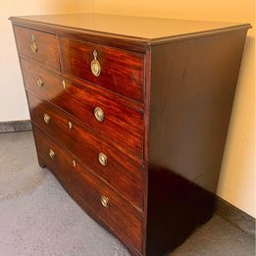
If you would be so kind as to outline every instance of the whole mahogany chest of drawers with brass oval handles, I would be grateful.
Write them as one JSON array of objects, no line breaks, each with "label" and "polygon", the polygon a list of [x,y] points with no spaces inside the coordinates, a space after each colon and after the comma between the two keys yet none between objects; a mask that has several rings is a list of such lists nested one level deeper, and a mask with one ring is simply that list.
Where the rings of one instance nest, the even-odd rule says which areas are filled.
[{"label": "whole mahogany chest of drawers with brass oval handles", "polygon": [[11,18],[38,162],[132,255],[213,213],[249,25]]}]

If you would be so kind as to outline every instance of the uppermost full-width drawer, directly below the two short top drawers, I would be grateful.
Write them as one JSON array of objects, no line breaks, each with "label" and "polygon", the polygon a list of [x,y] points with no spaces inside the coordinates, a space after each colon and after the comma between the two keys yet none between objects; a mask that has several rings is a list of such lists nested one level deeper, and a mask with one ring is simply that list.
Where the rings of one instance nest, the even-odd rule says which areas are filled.
[{"label": "uppermost full-width drawer, directly below the two short top drawers", "polygon": [[[21,64],[26,88],[69,112],[105,138],[127,148],[138,158],[143,158],[143,113],[118,103],[115,95],[114,98],[103,96],[86,84],[80,86],[66,80],[64,89],[62,77],[58,74],[23,59]],[[42,81],[39,86],[38,79]],[[97,107],[104,113],[102,122],[95,118]]]}]

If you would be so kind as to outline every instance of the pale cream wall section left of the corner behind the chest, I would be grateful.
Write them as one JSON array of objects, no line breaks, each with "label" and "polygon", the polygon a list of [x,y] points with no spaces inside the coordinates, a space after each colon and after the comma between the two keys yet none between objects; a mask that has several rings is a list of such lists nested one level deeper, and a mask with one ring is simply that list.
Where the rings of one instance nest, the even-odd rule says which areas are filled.
[{"label": "pale cream wall section left of the corner behind the chest", "polygon": [[7,0],[0,4],[0,122],[29,119],[10,16],[76,13],[91,9],[90,0]]}]

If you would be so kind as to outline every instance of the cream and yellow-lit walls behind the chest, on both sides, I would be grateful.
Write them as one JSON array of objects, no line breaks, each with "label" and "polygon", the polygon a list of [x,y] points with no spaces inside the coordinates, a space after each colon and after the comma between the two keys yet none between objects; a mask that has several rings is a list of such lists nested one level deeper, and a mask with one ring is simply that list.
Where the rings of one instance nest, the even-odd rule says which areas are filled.
[{"label": "cream and yellow-lit walls behind the chest, on both sides", "polygon": [[[89,1],[89,2],[88,2]],[[0,24],[4,36],[0,47],[0,122],[28,118],[26,98],[18,65],[11,15],[72,13],[92,10],[134,16],[245,22],[255,26],[254,0],[9,0],[1,3]],[[4,7],[3,7],[4,5]],[[2,93],[4,86],[4,93]],[[230,122],[229,137],[218,194],[251,216],[255,214],[255,29],[250,29],[245,46]]]}]

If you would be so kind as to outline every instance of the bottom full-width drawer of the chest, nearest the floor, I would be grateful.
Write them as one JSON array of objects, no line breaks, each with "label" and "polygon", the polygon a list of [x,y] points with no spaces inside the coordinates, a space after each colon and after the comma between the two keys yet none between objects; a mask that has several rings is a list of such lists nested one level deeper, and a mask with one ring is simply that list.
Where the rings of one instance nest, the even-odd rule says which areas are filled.
[{"label": "bottom full-width drawer of the chest, nearest the floor", "polygon": [[[42,162],[55,174],[75,200],[94,219],[100,219],[137,251],[142,250],[142,216],[104,181],[85,170],[77,159],[34,127]],[[50,156],[51,150],[51,156]],[[74,166],[76,161],[76,166]]]}]

